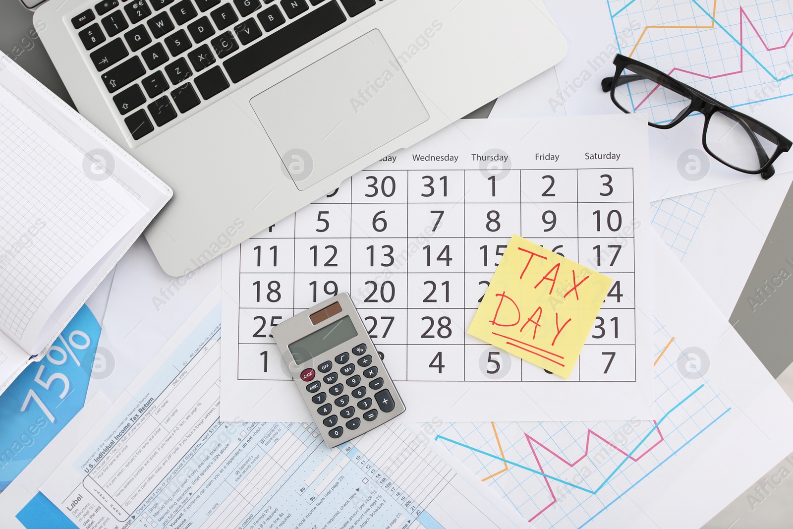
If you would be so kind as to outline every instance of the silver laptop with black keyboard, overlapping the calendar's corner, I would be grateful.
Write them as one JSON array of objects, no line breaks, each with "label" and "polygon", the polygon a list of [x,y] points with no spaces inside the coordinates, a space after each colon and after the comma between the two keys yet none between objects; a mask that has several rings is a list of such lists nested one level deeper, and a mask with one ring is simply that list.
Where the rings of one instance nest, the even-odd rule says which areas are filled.
[{"label": "silver laptop with black keyboard, overlapping the calendar's corner", "polygon": [[174,190],[145,232],[172,276],[566,52],[538,0],[48,0],[33,21],[80,113]]}]

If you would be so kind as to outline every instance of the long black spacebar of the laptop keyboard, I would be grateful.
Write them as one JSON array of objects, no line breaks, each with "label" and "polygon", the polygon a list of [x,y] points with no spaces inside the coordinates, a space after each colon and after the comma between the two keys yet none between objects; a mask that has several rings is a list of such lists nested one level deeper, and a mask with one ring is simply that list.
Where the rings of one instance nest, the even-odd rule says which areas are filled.
[{"label": "long black spacebar of the laptop keyboard", "polygon": [[333,0],[265,39],[259,40],[250,48],[243,49],[236,56],[227,59],[223,66],[232,82],[240,82],[318,36],[328,33],[346,20],[339,4]]}]

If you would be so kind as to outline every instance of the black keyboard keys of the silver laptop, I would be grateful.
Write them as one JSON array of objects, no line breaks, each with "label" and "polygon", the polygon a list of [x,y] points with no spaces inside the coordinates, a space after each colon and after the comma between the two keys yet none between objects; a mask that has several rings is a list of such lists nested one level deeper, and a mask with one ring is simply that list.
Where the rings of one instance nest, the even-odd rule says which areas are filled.
[{"label": "black keyboard keys of the silver laptop", "polygon": [[377,0],[104,0],[71,23],[141,140]]}]

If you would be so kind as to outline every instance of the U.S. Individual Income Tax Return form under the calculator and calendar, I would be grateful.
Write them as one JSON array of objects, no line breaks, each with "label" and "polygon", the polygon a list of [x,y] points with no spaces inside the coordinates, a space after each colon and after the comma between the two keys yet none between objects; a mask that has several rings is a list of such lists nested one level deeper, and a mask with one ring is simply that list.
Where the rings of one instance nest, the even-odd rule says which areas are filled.
[{"label": "U.S. Individual Income Tax Return form under the calculator and calendar", "polygon": [[400,424],[328,449],[313,424],[221,423],[218,298],[41,487],[76,527],[518,527]]}]

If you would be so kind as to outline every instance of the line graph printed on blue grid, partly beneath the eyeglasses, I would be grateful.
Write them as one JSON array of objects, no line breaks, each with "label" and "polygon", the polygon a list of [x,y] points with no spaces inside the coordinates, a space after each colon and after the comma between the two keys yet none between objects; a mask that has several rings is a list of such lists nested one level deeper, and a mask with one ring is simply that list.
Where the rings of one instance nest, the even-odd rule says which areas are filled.
[{"label": "line graph printed on blue grid, partly beneath the eyeglasses", "polygon": [[[793,95],[793,5],[787,0],[607,0],[611,27],[633,27],[619,52],[733,108]],[[747,111],[746,109],[743,109]]]}]

